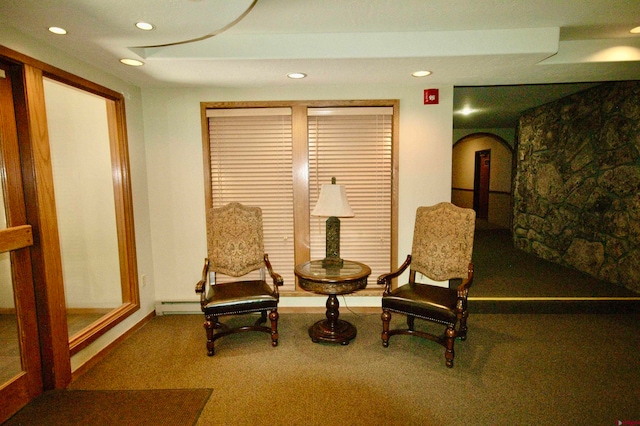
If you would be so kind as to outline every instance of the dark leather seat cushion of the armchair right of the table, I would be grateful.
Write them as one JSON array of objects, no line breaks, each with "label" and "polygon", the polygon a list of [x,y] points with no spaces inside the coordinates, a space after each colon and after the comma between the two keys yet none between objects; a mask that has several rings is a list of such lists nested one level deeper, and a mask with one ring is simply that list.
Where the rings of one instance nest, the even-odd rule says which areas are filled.
[{"label": "dark leather seat cushion of the armchair right of the table", "polygon": [[444,287],[426,284],[407,284],[382,298],[382,308],[433,319],[445,324],[455,324],[458,293]]}]

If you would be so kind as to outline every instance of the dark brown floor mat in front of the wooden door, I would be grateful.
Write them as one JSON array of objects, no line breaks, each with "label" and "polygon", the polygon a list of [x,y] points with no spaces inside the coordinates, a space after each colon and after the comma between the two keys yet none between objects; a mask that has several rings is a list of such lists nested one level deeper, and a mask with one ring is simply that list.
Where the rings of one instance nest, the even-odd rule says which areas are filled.
[{"label": "dark brown floor mat in front of the wooden door", "polygon": [[6,426],[194,425],[211,389],[57,390],[45,392]]}]

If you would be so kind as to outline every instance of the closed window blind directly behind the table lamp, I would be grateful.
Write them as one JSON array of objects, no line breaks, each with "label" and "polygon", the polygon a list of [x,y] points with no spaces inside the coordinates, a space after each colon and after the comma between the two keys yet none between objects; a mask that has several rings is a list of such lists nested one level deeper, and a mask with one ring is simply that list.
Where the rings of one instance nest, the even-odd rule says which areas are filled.
[{"label": "closed window blind directly behind the table lamp", "polygon": [[[309,108],[309,199],[322,184],[346,187],[355,213],[340,220],[340,257],[391,269],[392,107]],[[310,218],[311,258],[325,257],[326,218]]]}]

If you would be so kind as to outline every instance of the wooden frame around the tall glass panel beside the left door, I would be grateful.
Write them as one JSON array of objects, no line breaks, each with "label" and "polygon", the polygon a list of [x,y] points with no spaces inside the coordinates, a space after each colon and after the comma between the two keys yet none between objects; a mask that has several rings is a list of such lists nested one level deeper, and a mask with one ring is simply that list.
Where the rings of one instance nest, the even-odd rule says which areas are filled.
[{"label": "wooden frame around the tall glass panel beside the left door", "polygon": [[[0,59],[19,70],[12,83],[26,217],[33,231],[34,244],[30,254],[38,312],[42,382],[44,390],[60,389],[71,382],[71,354],[75,353],[71,349],[81,350],[140,308],[124,96],[1,45]],[[87,327],[80,339],[72,342],[72,348],[67,329],[44,77],[108,101],[123,304]]]}]

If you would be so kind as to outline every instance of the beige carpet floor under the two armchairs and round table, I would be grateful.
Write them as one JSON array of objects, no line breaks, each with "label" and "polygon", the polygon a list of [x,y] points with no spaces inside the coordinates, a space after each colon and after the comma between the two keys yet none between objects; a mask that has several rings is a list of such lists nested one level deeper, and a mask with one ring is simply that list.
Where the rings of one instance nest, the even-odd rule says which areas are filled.
[{"label": "beige carpet floor under the two armchairs and round table", "polygon": [[348,346],[310,341],[322,314],[282,313],[278,347],[244,333],[214,357],[202,315],[157,317],[71,389],[211,388],[201,426],[640,420],[640,315],[471,315],[448,369],[441,346],[394,336],[383,348],[379,314],[340,312],[358,329]]}]

